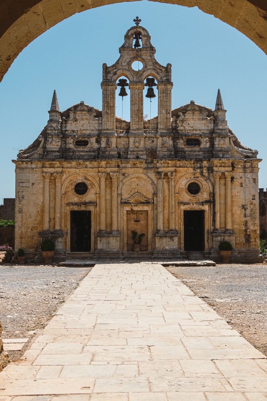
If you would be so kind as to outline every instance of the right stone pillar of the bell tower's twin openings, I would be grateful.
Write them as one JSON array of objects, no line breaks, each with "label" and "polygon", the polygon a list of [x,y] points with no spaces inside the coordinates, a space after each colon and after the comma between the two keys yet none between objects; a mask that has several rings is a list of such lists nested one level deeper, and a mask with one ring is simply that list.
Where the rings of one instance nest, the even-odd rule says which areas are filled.
[{"label": "right stone pillar of the bell tower's twin openings", "polygon": [[159,82],[158,89],[158,131],[171,128],[171,90],[172,82]]}]

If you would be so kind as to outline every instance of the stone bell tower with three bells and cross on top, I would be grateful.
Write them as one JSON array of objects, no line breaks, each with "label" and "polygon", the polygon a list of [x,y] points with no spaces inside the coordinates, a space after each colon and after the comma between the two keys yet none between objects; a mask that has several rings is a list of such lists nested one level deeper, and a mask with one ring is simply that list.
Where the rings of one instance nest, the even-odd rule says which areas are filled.
[{"label": "stone bell tower with three bells and cross on top", "polygon": [[[155,59],[156,49],[151,45],[149,32],[140,26],[141,19],[134,19],[132,26],[124,36],[124,43],[119,48],[120,57],[110,67],[103,64],[102,73],[102,133],[100,158],[116,158],[116,119],[115,91],[121,86],[121,77],[126,77],[120,90],[125,95],[125,87],[130,90],[130,129],[128,134],[128,158],[146,158],[144,133],[143,91],[148,87],[146,97],[158,101],[157,157],[173,157],[173,133],[171,129],[171,64],[166,67]],[[136,71],[132,65],[139,61],[141,68]],[[117,84],[118,79],[120,83]],[[156,83],[157,81],[157,83]],[[153,87],[157,87],[157,95]],[[109,138],[108,146],[106,146]],[[111,144],[110,144],[111,142]]]}]

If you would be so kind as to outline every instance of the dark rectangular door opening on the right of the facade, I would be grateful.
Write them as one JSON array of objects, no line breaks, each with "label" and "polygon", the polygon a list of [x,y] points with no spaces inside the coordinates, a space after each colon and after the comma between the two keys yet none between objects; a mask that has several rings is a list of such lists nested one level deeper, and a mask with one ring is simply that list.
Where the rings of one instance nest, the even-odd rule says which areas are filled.
[{"label": "dark rectangular door opening on the right of the facade", "polygon": [[184,211],[185,251],[204,251],[204,210]]}]

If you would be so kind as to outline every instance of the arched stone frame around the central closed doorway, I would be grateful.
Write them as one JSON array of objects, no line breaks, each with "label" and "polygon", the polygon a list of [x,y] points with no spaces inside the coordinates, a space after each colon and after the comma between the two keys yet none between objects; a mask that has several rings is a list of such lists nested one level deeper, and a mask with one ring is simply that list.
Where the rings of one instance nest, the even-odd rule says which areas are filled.
[{"label": "arched stone frame around the central closed doorway", "polygon": [[[150,194],[150,198],[153,198],[153,203],[140,203],[140,204],[130,204],[130,203],[121,203],[121,191],[122,191],[122,186],[130,179],[136,178],[136,177],[142,177],[145,178],[151,184],[153,188],[153,192]],[[142,173],[134,173],[130,174],[129,176],[123,178],[123,180],[120,181],[118,185],[118,191],[117,191],[117,199],[118,199],[118,227],[120,230],[120,249],[122,249],[123,252],[126,252],[126,233],[127,233],[127,227],[126,227],[126,214],[127,210],[135,210],[135,211],[148,211],[148,221],[149,221],[149,234],[148,234],[148,242],[149,242],[149,251],[153,251],[155,244],[153,244],[153,239],[154,239],[154,231],[155,227],[157,227],[157,223],[155,221],[155,213],[154,213],[154,208],[156,205],[157,206],[157,186],[154,182],[154,180],[147,176],[146,174]]]}]

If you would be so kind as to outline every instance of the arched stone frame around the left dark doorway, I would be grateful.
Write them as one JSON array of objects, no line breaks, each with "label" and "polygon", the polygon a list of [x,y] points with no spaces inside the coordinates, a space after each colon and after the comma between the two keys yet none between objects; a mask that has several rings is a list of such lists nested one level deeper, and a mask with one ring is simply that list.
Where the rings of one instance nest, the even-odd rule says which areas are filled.
[{"label": "arched stone frame around the left dark doorway", "polygon": [[[76,203],[71,203],[71,205],[66,205],[66,188],[68,185],[74,185],[77,182],[89,182],[90,185],[94,185],[96,189],[96,201],[86,203],[86,194],[81,196],[80,201]],[[91,211],[91,252],[94,252],[96,244],[96,233],[98,230],[98,201],[99,200],[99,185],[94,178],[86,173],[75,173],[68,176],[62,186],[61,186],[61,227],[64,231],[63,246],[67,252],[70,252],[70,210],[71,211]]]}]

